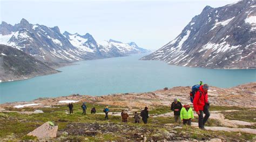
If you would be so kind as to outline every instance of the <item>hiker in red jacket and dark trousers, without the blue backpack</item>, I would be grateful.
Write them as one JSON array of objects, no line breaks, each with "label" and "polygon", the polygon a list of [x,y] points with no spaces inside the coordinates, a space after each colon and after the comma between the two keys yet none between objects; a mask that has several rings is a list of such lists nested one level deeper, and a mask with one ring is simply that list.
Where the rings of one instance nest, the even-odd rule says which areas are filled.
[{"label": "hiker in red jacket and dark trousers, without the blue backpack", "polygon": [[[204,125],[207,119],[210,117],[210,112],[208,110],[208,89],[209,86],[207,84],[201,85],[193,99],[194,111],[198,114],[198,126],[203,130],[205,129]],[[203,113],[205,113],[205,117],[203,116]]]}]

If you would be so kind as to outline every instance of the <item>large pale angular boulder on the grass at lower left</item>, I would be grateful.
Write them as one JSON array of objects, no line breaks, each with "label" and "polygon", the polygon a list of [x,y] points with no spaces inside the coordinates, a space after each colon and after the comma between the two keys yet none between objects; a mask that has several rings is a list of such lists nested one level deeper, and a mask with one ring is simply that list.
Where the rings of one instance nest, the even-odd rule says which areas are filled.
[{"label": "large pale angular boulder on the grass at lower left", "polygon": [[36,136],[38,139],[57,137],[58,126],[52,126],[49,122],[44,123],[37,129],[28,133],[29,136]]}]

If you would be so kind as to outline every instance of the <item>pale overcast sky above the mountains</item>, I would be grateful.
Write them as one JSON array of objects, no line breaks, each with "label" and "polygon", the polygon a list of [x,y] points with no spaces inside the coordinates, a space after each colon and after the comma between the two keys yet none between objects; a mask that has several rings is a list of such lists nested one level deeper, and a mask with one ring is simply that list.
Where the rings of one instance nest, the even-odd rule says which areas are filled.
[{"label": "pale overcast sky above the mountains", "polygon": [[0,0],[0,21],[58,26],[60,31],[90,33],[98,43],[114,39],[157,50],[176,38],[206,5],[238,0]]}]

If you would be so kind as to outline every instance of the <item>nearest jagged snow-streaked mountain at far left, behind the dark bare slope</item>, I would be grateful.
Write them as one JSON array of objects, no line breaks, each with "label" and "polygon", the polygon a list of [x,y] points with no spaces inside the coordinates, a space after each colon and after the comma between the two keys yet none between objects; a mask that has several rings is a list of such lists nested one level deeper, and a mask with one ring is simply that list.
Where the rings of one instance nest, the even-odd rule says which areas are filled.
[{"label": "nearest jagged snow-streaked mountain at far left, behind the dark bare slope", "polygon": [[84,59],[84,53],[60,33],[58,26],[33,25],[25,19],[14,26],[2,22],[0,44],[22,50],[51,66]]}]

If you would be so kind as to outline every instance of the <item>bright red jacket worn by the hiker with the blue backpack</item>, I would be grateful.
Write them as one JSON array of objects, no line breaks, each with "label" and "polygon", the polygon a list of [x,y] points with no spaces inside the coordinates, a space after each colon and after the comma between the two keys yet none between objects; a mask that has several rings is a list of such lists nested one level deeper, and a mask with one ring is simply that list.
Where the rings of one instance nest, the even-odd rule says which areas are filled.
[{"label": "bright red jacket worn by the hiker with the blue backpack", "polygon": [[201,91],[201,97],[200,92],[197,91],[193,99],[194,111],[203,111],[205,103],[208,103],[208,94],[204,91],[203,85],[199,87],[199,90]]}]

